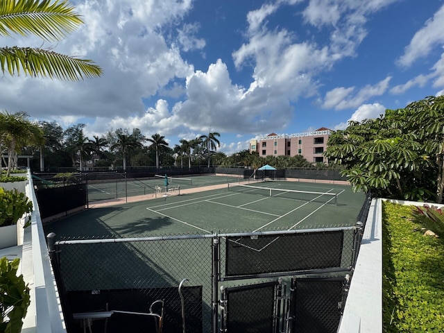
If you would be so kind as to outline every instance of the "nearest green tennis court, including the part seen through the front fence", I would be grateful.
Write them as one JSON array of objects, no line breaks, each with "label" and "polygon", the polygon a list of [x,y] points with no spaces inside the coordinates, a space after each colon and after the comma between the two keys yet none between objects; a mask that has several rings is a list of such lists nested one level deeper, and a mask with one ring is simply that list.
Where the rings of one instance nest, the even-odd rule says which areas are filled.
[{"label": "nearest green tennis court, including the part seen through the front fence", "polygon": [[[91,296],[91,292],[84,295],[94,298],[100,308],[113,292],[130,290],[148,297],[158,291],[169,306],[165,329],[169,325],[168,332],[181,332],[180,307],[174,307],[174,300],[178,282],[187,278],[187,287],[200,292],[187,307],[188,325],[195,325],[192,332],[216,332],[212,329],[212,323],[217,323],[214,316],[218,316],[212,305],[217,302],[214,297],[221,286],[238,285],[239,274],[271,274],[288,280],[287,269],[327,272],[350,267],[353,231],[320,229],[355,225],[364,194],[352,193],[346,185],[311,182],[254,182],[244,187],[236,181],[229,190],[226,177],[200,176],[199,180],[206,185],[216,185],[214,181],[219,180],[220,188],[206,190],[193,178],[190,191],[180,195],[149,196],[149,200],[89,209],[46,225],[46,234],[55,232],[56,239],[63,239],[58,262],[68,298],[101,291],[101,297]],[[162,180],[157,182],[162,184]],[[305,193],[295,195],[293,191]],[[307,234],[285,231],[259,238],[243,234],[298,229]],[[314,229],[319,230],[308,231]],[[221,232],[239,234],[216,237],[215,243],[214,234]],[[215,244],[219,250],[214,250]],[[249,279],[248,284],[273,280]],[[133,296],[126,293],[119,296],[116,308],[126,309],[123,302],[131,304]],[[85,300],[80,304],[84,306]],[[77,311],[93,310],[82,307]]]}]

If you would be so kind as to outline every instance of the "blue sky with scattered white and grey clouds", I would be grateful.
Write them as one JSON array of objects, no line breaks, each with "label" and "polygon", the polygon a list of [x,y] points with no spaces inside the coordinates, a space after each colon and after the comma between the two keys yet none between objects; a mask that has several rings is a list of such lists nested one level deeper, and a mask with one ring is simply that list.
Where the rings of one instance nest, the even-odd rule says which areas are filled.
[{"label": "blue sky with scattered white and grey clouds", "polygon": [[139,128],[170,146],[211,130],[229,155],[444,94],[443,0],[71,2],[85,24],[65,40],[0,43],[89,58],[103,76],[3,76],[0,110],[86,123],[90,138]]}]

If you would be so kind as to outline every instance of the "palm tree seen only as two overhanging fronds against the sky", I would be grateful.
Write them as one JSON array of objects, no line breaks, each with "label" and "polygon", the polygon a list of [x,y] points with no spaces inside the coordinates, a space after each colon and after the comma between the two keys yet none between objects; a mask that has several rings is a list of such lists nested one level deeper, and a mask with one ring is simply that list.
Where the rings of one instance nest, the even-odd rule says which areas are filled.
[{"label": "palm tree seen only as two overhanging fronds against the sky", "polygon": [[[65,0],[1,0],[0,35],[37,35],[42,40],[58,41],[83,24]],[[24,74],[61,80],[98,77],[101,67],[92,60],[78,59],[33,47],[0,47],[0,67],[3,74]]]}]

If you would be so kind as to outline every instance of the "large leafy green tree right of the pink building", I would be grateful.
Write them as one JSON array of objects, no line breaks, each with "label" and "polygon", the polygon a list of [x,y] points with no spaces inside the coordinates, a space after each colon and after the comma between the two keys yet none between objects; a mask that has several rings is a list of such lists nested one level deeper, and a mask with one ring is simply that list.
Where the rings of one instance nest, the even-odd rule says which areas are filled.
[{"label": "large leafy green tree right of the pink building", "polygon": [[430,97],[377,119],[352,121],[332,133],[325,156],[345,167],[341,174],[355,191],[441,203],[443,112],[443,97]]}]

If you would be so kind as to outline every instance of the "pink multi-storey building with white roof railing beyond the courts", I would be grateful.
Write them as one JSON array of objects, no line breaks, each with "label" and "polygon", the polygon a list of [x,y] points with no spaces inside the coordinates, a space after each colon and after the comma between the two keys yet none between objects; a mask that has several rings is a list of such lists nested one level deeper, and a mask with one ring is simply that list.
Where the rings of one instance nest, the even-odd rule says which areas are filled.
[{"label": "pink multi-storey building with white roof railing beyond the courts", "polygon": [[259,156],[296,156],[302,155],[312,163],[324,162],[328,164],[323,153],[327,149],[327,140],[331,130],[319,128],[313,132],[294,134],[271,133],[258,140],[250,141],[250,153],[257,151]]}]

